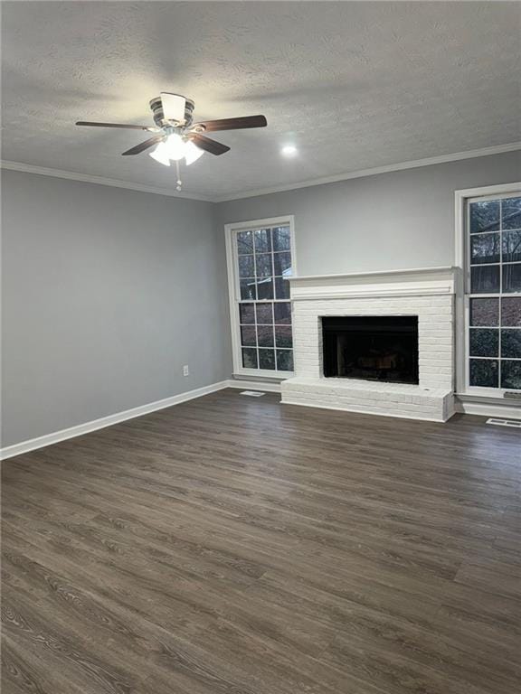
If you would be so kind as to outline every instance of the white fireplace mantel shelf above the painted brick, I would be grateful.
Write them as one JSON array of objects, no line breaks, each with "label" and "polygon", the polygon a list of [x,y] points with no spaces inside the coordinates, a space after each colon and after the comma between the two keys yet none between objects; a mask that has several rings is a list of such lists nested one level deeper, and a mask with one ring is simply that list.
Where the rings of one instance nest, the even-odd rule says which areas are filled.
[{"label": "white fireplace mantel shelf above the painted brick", "polygon": [[446,295],[454,294],[457,273],[456,267],[416,267],[343,275],[289,277],[289,283],[292,301],[350,296]]}]

